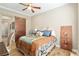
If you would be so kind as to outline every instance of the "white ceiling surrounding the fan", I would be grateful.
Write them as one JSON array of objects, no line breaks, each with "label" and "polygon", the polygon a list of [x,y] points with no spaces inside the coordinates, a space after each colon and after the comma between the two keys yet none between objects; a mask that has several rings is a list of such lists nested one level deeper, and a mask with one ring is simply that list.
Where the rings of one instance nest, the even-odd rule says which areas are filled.
[{"label": "white ceiling surrounding the fan", "polygon": [[33,15],[36,15],[36,14],[46,12],[46,11],[52,10],[54,8],[60,7],[64,4],[66,4],[66,3],[53,3],[53,4],[51,4],[51,3],[33,3],[33,5],[41,7],[40,10],[35,9],[35,11],[36,11],[35,13],[32,13],[28,9],[23,11],[22,9],[25,8],[25,6],[20,5],[19,3],[0,3],[0,8],[14,11],[14,12],[17,12],[17,13],[20,13],[23,15],[33,16]]}]

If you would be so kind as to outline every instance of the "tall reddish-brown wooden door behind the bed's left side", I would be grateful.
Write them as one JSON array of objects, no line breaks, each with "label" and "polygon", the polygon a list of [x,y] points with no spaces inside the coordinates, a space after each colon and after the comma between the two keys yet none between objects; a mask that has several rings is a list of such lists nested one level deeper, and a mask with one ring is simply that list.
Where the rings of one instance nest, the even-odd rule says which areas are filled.
[{"label": "tall reddish-brown wooden door behind the bed's left side", "polygon": [[21,36],[26,35],[26,19],[15,17],[15,42],[18,44],[18,40]]}]

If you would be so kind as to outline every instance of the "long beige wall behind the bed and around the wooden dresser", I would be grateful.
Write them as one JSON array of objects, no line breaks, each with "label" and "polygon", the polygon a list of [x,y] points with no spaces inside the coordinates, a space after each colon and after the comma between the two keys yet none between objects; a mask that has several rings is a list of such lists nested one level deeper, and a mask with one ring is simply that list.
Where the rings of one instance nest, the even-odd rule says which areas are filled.
[{"label": "long beige wall behind the bed and around the wooden dresser", "polygon": [[73,48],[77,49],[77,13],[77,4],[67,4],[51,11],[35,15],[32,17],[32,29],[49,27],[55,30],[58,39],[57,44],[60,44],[60,26],[72,25]]}]

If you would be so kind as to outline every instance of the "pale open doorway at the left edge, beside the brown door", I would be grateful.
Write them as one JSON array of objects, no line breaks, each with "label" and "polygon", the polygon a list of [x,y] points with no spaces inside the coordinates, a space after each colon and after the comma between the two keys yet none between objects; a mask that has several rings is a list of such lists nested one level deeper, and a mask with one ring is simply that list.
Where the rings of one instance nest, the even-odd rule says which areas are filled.
[{"label": "pale open doorway at the left edge, beside the brown door", "polygon": [[5,46],[9,45],[9,35],[11,33],[10,24],[13,22],[12,17],[1,15],[0,18],[0,37],[1,41],[4,42]]}]

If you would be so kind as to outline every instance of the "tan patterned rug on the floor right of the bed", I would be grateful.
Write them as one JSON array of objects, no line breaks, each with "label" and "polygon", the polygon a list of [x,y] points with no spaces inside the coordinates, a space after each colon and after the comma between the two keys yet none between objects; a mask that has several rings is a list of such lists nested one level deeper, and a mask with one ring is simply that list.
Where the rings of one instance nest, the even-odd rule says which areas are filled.
[{"label": "tan patterned rug on the floor right of the bed", "polygon": [[55,47],[47,56],[70,56],[70,51]]}]

